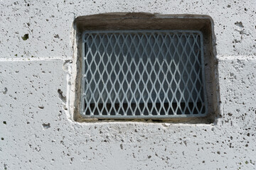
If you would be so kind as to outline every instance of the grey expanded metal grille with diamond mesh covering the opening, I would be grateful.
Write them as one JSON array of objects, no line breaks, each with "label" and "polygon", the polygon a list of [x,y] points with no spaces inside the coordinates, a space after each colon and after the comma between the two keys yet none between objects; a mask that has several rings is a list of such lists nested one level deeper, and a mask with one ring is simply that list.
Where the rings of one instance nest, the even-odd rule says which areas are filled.
[{"label": "grey expanded metal grille with diamond mesh covering the opening", "polygon": [[85,31],[84,118],[173,118],[207,114],[199,31]]}]

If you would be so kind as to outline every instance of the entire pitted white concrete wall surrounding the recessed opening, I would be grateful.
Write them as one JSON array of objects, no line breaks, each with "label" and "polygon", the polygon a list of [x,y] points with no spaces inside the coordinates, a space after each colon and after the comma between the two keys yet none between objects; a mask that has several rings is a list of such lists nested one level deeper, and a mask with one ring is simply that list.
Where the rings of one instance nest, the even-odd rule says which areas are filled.
[{"label": "entire pitted white concrete wall surrounding the recessed opening", "polygon": [[[254,0],[1,1],[0,169],[255,169],[255,6]],[[213,18],[220,118],[210,125],[73,121],[66,106],[72,23],[119,11]]]}]

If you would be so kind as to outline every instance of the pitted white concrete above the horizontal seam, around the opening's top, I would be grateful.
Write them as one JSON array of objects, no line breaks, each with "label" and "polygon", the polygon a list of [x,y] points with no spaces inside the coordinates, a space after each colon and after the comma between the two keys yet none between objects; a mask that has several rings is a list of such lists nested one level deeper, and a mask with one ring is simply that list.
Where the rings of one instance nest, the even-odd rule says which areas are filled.
[{"label": "pitted white concrete above the horizontal seam, around the opening's top", "polygon": [[0,57],[71,58],[74,18],[112,12],[208,15],[215,23],[218,55],[256,55],[255,6],[255,0],[2,1]]}]

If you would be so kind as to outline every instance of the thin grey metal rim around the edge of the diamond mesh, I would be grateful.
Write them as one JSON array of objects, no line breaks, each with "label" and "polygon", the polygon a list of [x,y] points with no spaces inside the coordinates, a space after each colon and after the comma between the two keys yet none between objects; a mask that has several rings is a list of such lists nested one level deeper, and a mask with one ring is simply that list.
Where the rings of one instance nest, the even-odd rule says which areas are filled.
[{"label": "thin grey metal rim around the edge of the diamond mesh", "polygon": [[[171,33],[198,33],[200,34],[201,38],[201,74],[202,74],[202,84],[203,84],[203,96],[204,96],[204,103],[205,103],[205,113],[201,114],[181,114],[181,115],[85,115],[83,114],[84,108],[84,89],[85,89],[85,35],[87,33],[134,33],[134,32],[171,32]],[[200,118],[206,117],[208,115],[208,98],[207,98],[207,91],[206,91],[206,74],[205,74],[205,67],[204,67],[204,57],[203,57],[203,33],[199,30],[83,30],[82,32],[82,76],[81,76],[81,86],[80,86],[80,115],[82,118],[99,118],[99,119],[166,119],[166,118]]]}]

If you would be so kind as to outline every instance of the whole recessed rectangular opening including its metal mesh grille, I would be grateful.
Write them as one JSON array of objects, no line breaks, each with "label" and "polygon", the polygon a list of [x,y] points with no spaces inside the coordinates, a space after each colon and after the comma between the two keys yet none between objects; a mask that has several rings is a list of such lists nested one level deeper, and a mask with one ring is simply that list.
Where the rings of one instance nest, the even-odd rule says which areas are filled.
[{"label": "whole recessed rectangular opening including its metal mesh grille", "polygon": [[74,120],[213,123],[218,67],[209,16],[104,13],[74,21]]}]

